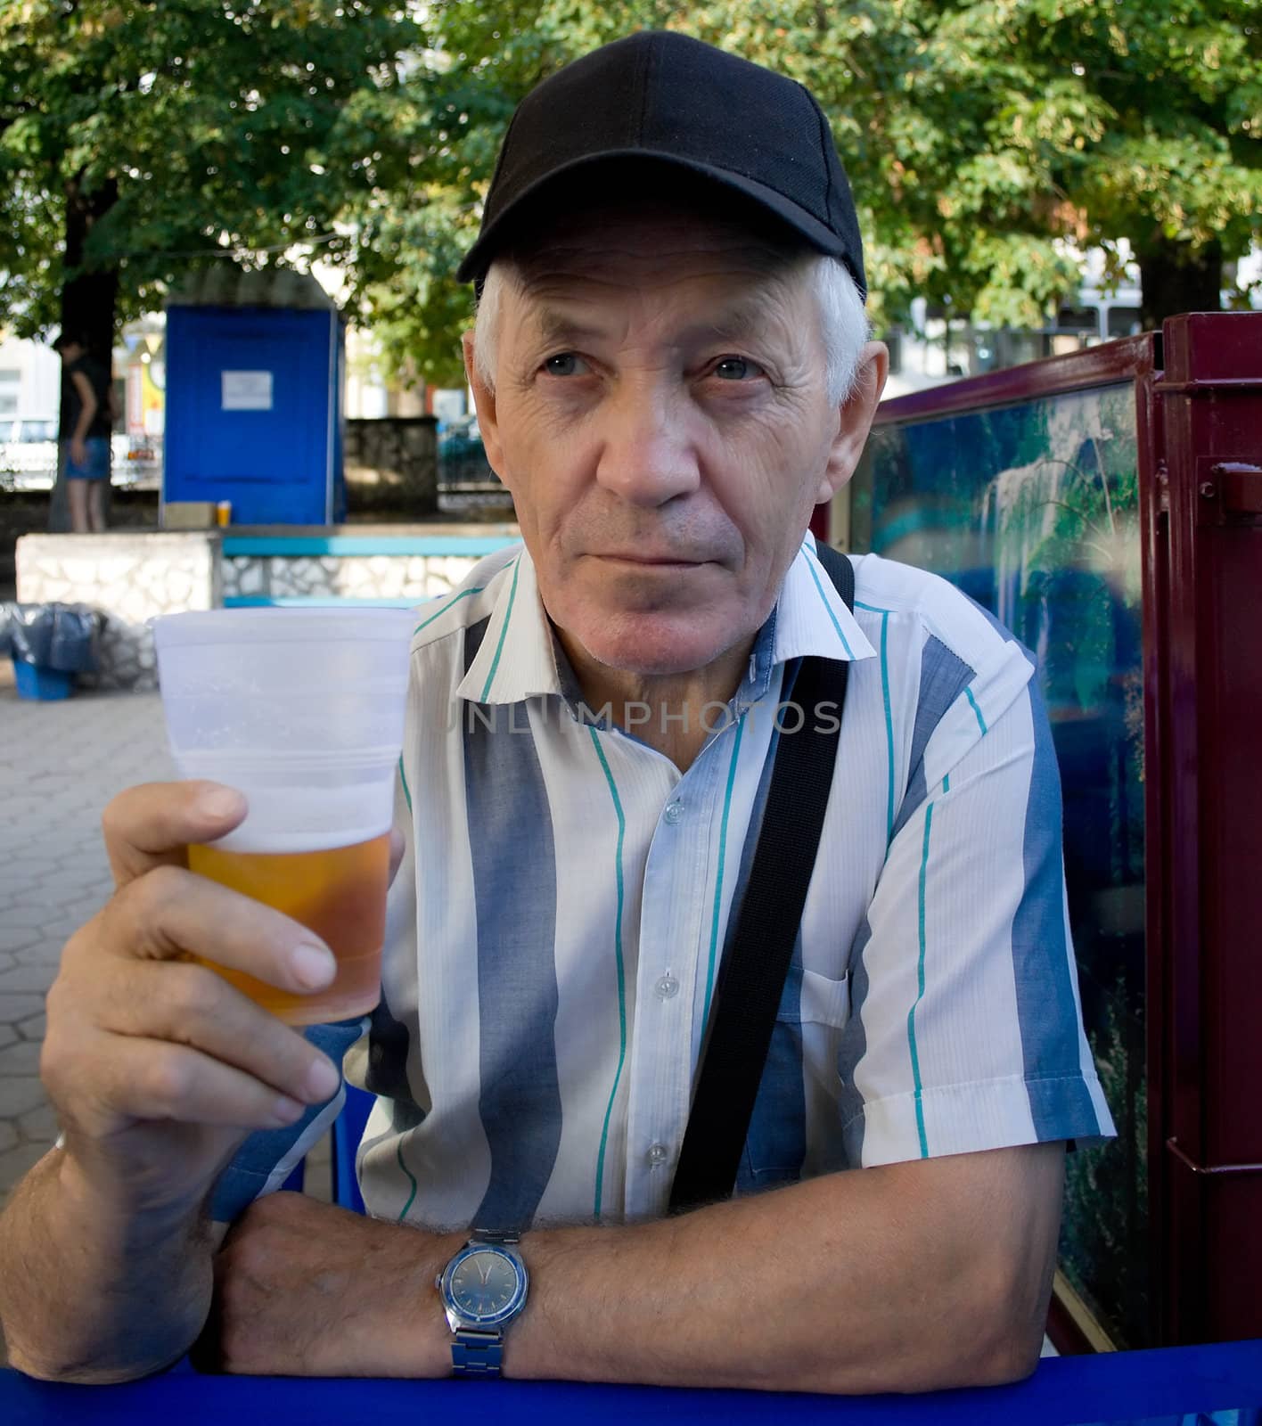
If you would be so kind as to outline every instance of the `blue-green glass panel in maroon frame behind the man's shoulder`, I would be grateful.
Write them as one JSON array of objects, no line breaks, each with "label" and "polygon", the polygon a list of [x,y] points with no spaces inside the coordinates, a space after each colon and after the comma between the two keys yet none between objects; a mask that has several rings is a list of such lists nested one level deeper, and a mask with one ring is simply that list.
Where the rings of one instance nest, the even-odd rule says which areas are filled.
[{"label": "blue-green glass panel in maroon frame behind the man's shoulder", "polygon": [[1061,1266],[1119,1346],[1146,1330],[1144,684],[1129,384],[878,428],[851,545],[931,569],[1031,649],[1065,804],[1082,1014],[1118,1138],[1068,1156]]}]

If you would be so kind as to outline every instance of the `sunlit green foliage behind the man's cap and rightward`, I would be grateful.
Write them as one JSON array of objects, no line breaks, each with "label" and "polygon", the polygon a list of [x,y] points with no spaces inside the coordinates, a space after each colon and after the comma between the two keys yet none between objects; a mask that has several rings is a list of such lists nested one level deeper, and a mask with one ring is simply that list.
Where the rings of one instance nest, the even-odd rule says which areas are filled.
[{"label": "sunlit green foliage behind the man's cap and rightward", "polygon": [[878,322],[927,297],[1041,325],[1081,279],[1058,240],[1104,247],[1114,275],[1127,240],[1155,322],[1216,307],[1222,261],[1262,240],[1262,0],[439,0],[426,24],[409,148],[425,205],[378,205],[374,232],[391,341],[429,361],[468,312],[451,262],[513,106],[636,29],[694,34],[819,97]]}]

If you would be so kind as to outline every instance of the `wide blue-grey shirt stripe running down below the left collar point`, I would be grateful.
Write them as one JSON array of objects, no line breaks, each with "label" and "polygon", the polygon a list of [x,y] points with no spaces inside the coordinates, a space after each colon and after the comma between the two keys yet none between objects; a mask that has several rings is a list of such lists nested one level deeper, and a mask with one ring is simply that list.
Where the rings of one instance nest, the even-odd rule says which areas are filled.
[{"label": "wide blue-grey shirt stripe running down below the left collar point", "polygon": [[556,848],[526,709],[491,713],[491,726],[466,719],[463,727],[478,917],[478,1112],[491,1149],[475,1221],[526,1228],[560,1148]]}]

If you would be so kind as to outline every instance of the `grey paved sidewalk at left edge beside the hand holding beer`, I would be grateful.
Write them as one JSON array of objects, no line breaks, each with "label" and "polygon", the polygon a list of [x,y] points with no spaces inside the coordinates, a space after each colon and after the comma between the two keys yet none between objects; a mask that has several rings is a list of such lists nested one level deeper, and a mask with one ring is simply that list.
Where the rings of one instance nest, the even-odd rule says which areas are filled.
[{"label": "grey paved sidewalk at left edge beside the hand holding beer", "polygon": [[0,1208],[57,1137],[39,1081],[44,994],[113,887],[101,811],[170,776],[157,693],[31,703],[0,684]]}]

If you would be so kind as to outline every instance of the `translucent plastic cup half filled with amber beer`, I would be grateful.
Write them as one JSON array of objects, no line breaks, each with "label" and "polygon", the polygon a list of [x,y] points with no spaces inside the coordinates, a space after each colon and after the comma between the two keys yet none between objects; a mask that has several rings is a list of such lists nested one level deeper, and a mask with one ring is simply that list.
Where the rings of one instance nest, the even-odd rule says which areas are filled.
[{"label": "translucent plastic cup half filled with amber beer", "polygon": [[314,995],[205,963],[291,1025],[351,1020],[381,995],[412,626],[409,610],[335,607],[154,623],[180,776],[225,783],[248,804],[228,836],[188,848],[190,870],[294,917],[337,957]]}]

